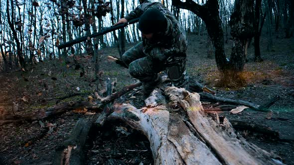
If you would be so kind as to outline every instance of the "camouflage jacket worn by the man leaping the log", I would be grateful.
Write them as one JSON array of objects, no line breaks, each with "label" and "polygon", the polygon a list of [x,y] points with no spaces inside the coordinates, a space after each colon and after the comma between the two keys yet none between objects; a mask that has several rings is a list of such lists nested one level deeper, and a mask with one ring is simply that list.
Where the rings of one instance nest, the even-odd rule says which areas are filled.
[{"label": "camouflage jacket worn by the man leaping the log", "polygon": [[136,7],[134,11],[131,11],[125,18],[127,20],[138,18],[144,11],[151,8],[156,8],[165,15],[167,28],[165,32],[159,34],[156,42],[150,43],[147,39],[143,39],[144,53],[159,61],[166,60],[176,54],[185,55],[187,49],[185,31],[173,13],[161,3],[146,1]]}]

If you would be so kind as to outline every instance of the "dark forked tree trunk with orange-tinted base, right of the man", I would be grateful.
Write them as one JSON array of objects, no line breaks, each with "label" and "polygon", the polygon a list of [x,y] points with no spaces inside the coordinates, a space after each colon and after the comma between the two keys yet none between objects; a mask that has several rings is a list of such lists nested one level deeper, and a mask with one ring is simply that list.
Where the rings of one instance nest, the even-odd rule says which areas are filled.
[{"label": "dark forked tree trunk with orange-tinted base, right of the man", "polygon": [[224,52],[224,37],[219,16],[218,0],[207,0],[200,5],[193,0],[172,0],[173,5],[188,9],[198,15],[206,24],[208,35],[215,47],[215,60],[222,75],[224,84],[243,83],[240,73],[244,69],[247,55],[248,39],[253,37],[253,0],[236,0],[234,11],[231,15],[231,35],[233,47],[230,60]]}]

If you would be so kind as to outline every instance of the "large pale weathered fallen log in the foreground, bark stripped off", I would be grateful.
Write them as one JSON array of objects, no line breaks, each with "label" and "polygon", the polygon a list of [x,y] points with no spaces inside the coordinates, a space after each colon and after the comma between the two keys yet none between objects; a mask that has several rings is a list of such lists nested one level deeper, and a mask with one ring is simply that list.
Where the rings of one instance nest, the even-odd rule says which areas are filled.
[{"label": "large pale weathered fallen log in the foreground, bark stripped off", "polygon": [[[153,91],[160,95],[160,90]],[[115,106],[107,120],[122,120],[150,141],[154,164],[159,165],[277,165],[274,154],[248,143],[226,118],[204,113],[198,93],[167,87],[169,97],[147,99],[141,109]]]}]

